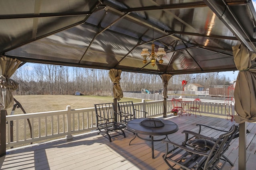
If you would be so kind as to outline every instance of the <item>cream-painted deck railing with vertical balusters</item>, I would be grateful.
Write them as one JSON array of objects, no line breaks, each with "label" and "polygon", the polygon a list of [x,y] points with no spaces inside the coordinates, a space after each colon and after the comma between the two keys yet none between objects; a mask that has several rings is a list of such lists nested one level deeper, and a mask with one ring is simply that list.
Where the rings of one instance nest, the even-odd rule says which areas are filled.
[{"label": "cream-painted deck railing with vertical balusters", "polygon": [[[192,101],[192,99],[184,100]],[[190,107],[190,105],[189,103],[187,107]],[[226,116],[228,113],[234,114],[233,105],[232,102],[202,100],[200,112]],[[164,112],[163,100],[152,102],[142,100],[140,103],[134,103],[134,107],[138,110],[147,111],[147,117],[160,116]],[[167,114],[171,113],[171,100],[167,100],[166,109]],[[139,117],[142,116],[139,115]],[[27,119],[31,122],[31,134]],[[75,133],[84,133],[96,129],[94,107],[71,109],[70,106],[67,106],[66,110],[60,111],[7,115],[6,121],[7,148],[57,139],[64,136],[66,136],[66,139],[72,139],[72,135]],[[11,129],[13,129],[13,137]],[[12,138],[13,140],[11,140]]]}]

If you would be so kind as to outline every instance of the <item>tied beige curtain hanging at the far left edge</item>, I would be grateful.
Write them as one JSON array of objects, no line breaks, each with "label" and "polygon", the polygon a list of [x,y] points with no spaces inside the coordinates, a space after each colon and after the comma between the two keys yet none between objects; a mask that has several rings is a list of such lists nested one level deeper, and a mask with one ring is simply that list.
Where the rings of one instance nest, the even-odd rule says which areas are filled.
[{"label": "tied beige curtain hanging at the far left edge", "polygon": [[0,103],[3,109],[8,109],[14,105],[12,92],[18,88],[18,83],[10,77],[18,69],[20,63],[22,62],[17,59],[7,58],[3,55],[0,57]]}]

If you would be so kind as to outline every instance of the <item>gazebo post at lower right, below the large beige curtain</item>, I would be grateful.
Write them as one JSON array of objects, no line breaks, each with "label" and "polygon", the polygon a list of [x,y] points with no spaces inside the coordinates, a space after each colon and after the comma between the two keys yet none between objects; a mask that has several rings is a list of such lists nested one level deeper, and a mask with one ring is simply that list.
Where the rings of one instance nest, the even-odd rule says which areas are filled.
[{"label": "gazebo post at lower right, below the large beige curtain", "polygon": [[246,170],[246,122],[239,124],[238,170]]}]

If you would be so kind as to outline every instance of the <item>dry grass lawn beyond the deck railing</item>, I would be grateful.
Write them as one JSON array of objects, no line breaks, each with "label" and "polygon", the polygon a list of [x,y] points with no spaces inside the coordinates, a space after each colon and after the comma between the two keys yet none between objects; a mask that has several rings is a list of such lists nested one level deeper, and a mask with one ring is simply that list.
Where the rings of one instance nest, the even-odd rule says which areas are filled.
[{"label": "dry grass lawn beyond the deck railing", "polygon": [[[26,95],[14,96],[20,102],[26,113],[43,111],[64,110],[68,105],[71,109],[94,107],[94,104],[113,102],[112,96],[72,96],[72,95]],[[141,99],[122,98],[118,102],[141,102]],[[15,103],[15,102],[14,102]],[[12,108],[7,109],[10,115]],[[20,108],[15,109],[15,114],[23,114]]]}]

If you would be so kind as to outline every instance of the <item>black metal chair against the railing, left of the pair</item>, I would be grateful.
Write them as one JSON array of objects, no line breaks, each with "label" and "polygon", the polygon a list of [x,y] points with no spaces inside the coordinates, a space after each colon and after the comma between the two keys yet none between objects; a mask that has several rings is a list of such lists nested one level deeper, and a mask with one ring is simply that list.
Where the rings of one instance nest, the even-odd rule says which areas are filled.
[{"label": "black metal chair against the railing, left of the pair", "polygon": [[[98,134],[102,133],[102,135],[109,139],[110,142],[112,141],[111,137],[118,135],[126,137],[123,130],[126,127],[126,124],[121,123],[121,116],[119,116],[118,119],[117,115],[119,113],[114,111],[113,103],[94,104],[94,107],[96,113],[96,127],[99,131]],[[110,136],[110,131],[116,131],[117,134]]]}]

